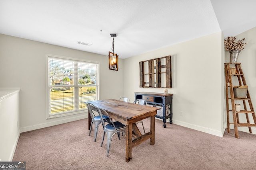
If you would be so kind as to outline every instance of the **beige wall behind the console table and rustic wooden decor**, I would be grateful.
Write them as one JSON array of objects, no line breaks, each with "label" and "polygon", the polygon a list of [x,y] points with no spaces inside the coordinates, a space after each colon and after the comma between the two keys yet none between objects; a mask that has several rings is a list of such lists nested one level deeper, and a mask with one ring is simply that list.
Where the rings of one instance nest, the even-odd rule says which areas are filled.
[{"label": "beige wall behind the console table and rustic wooden decor", "polygon": [[[172,55],[172,88],[168,93],[174,94],[173,123],[222,136],[223,40],[218,32],[124,59],[124,96],[134,100],[134,92],[162,93],[162,88],[139,88],[139,62]],[[167,128],[171,125],[167,124]]]}]

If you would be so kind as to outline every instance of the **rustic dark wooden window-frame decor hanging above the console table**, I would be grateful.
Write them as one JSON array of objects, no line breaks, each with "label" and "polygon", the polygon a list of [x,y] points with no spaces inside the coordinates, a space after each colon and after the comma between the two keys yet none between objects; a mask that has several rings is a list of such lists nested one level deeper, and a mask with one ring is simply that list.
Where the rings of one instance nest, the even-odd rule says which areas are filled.
[{"label": "rustic dark wooden window-frame decor hanging above the console table", "polygon": [[[140,87],[142,88],[172,88],[172,62],[171,55],[151,59],[147,61],[140,61]],[[165,59],[165,65],[161,65],[161,59]],[[145,65],[148,62],[148,66]],[[148,67],[148,73],[144,69]],[[161,68],[166,68],[161,71]],[[165,74],[165,76],[164,76]],[[164,79],[166,86],[161,86],[161,80]],[[148,80],[148,82],[145,82]]]}]

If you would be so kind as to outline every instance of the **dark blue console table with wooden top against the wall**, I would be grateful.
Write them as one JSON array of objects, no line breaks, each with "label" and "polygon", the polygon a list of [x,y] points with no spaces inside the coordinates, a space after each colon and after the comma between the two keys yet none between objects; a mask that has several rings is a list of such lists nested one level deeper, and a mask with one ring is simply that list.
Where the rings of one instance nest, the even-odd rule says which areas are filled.
[{"label": "dark blue console table with wooden top against the wall", "polygon": [[155,117],[163,119],[164,128],[166,127],[166,119],[170,118],[170,124],[172,124],[172,95],[153,92],[135,92],[135,100],[146,100],[148,106],[160,107]]}]

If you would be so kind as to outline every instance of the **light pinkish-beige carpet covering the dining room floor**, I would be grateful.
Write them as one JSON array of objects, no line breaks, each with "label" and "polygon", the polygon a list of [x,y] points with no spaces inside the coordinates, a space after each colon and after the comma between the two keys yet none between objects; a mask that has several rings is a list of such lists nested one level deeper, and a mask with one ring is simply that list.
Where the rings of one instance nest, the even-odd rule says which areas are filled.
[{"label": "light pinkish-beige carpet covering the dining room floor", "polygon": [[[150,119],[144,126],[149,131]],[[106,137],[100,125],[96,142],[88,136],[87,119],[20,134],[13,161],[26,161],[26,170],[254,170],[256,135],[225,131],[217,137],[179,125],[163,128],[156,119],[155,145],[150,139],[132,149],[132,160],[125,162],[125,136],[114,135],[109,157]],[[142,130],[141,123],[138,125]],[[143,132],[143,130],[142,130]]]}]

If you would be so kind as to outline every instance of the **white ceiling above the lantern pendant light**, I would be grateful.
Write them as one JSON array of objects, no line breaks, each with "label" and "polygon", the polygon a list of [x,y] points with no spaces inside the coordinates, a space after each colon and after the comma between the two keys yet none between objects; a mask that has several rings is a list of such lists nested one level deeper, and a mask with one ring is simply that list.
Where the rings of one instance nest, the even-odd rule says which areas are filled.
[{"label": "white ceiling above the lantern pendant light", "polygon": [[[256,27],[255,0],[0,0],[0,33],[125,59]],[[77,42],[91,44],[81,45]]]}]

